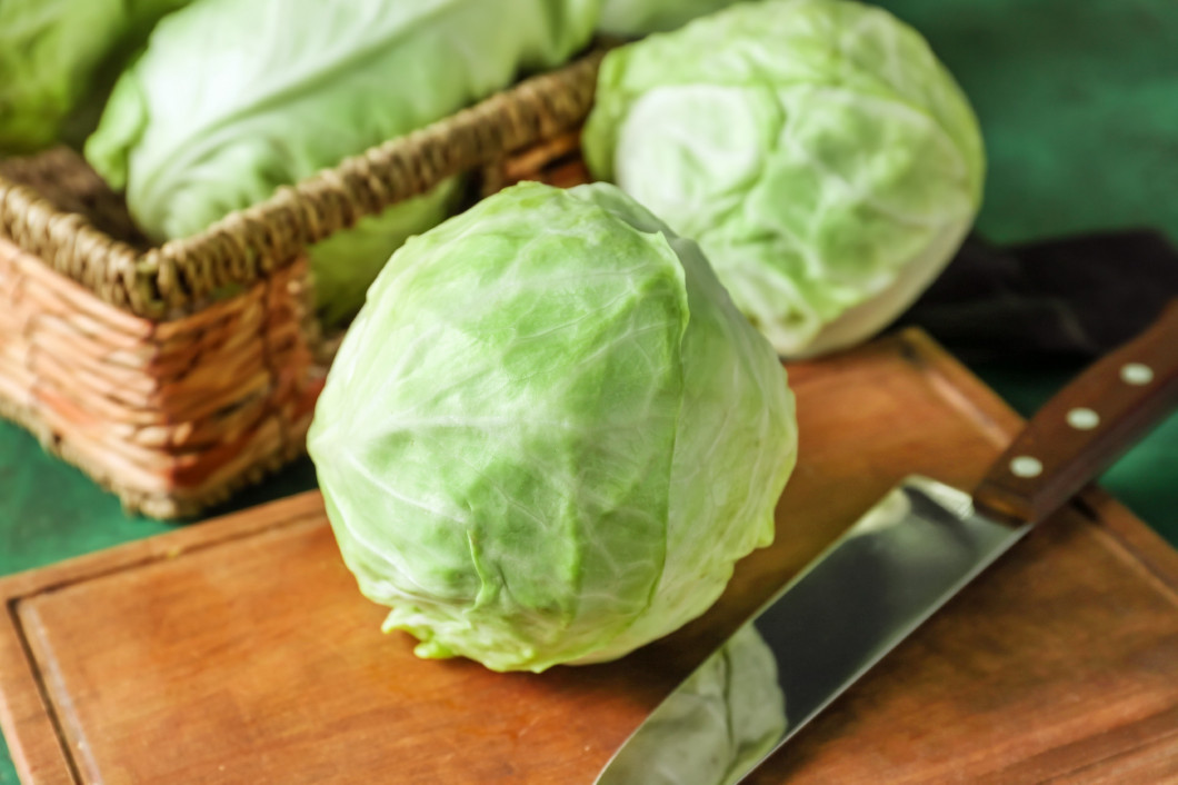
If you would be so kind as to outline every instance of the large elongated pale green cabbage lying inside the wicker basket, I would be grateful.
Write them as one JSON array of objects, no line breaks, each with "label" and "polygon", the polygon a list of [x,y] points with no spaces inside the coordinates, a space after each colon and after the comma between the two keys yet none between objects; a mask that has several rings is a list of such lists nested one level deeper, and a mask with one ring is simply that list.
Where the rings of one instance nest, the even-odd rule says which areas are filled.
[{"label": "large elongated pale green cabbage lying inside the wicker basket", "polygon": [[[86,156],[150,236],[185,237],[564,61],[596,14],[596,0],[199,0],[158,26]],[[452,192],[369,222],[388,242],[312,250],[327,311],[355,311],[389,248]]]}]

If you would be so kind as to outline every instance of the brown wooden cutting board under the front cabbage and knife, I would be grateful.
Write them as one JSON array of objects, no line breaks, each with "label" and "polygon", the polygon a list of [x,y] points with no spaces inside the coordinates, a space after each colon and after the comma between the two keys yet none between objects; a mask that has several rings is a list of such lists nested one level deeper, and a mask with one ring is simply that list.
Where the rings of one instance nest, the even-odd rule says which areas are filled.
[{"label": "brown wooden cutting board under the front cabbage and knife", "polygon": [[[792,367],[777,540],[623,660],[497,674],[383,635],[317,494],[0,581],[26,783],[585,783],[901,476],[968,487],[1018,417],[922,334]],[[85,510],[79,510],[85,514]],[[1178,781],[1178,553],[1097,489],[952,600],[756,783]]]}]

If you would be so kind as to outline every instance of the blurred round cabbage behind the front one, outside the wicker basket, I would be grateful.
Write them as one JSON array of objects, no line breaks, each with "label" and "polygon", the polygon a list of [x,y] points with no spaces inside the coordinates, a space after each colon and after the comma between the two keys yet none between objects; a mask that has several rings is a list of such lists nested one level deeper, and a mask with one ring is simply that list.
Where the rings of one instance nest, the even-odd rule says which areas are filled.
[{"label": "blurred round cabbage behind the front one, outside the wicker basket", "polygon": [[739,2],[613,51],[584,149],[596,177],[700,243],[785,356],[885,326],[982,191],[953,78],[915,31],[846,0]]}]

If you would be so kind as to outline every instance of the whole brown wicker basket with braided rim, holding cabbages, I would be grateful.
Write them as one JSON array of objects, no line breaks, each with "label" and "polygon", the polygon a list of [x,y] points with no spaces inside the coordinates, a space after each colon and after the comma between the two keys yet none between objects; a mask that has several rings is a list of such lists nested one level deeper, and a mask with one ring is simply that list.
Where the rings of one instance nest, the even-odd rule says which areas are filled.
[{"label": "whole brown wicker basket with braided rim, holding cabbages", "polygon": [[306,248],[458,172],[483,173],[484,192],[582,177],[575,130],[600,59],[163,246],[77,154],[0,163],[0,414],[154,517],[260,480],[305,450],[330,358]]}]

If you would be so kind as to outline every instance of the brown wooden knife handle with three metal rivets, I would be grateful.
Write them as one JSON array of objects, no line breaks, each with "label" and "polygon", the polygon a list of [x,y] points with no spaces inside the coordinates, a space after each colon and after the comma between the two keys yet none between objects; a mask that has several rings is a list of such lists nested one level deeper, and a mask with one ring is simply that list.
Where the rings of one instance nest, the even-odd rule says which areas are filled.
[{"label": "brown wooden knife handle with three metal rivets", "polygon": [[1176,405],[1178,299],[1044,404],[974,490],[974,507],[1013,523],[1038,523]]}]

